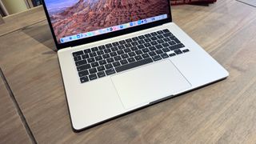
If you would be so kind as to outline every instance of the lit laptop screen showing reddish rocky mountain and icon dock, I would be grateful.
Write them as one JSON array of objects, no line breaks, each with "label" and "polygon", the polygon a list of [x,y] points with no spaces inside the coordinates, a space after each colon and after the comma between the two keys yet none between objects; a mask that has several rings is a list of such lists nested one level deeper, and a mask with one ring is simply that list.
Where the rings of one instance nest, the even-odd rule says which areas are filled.
[{"label": "lit laptop screen showing reddish rocky mountain and icon dock", "polygon": [[170,18],[167,0],[45,0],[58,44]]}]

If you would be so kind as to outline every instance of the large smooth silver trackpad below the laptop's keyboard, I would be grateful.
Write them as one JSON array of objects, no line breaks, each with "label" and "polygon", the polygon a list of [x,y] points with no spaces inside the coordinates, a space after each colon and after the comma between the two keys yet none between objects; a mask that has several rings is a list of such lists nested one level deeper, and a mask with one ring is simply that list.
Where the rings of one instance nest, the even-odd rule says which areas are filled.
[{"label": "large smooth silver trackpad below the laptop's keyboard", "polygon": [[148,104],[191,86],[170,60],[115,75],[112,81],[126,109]]}]

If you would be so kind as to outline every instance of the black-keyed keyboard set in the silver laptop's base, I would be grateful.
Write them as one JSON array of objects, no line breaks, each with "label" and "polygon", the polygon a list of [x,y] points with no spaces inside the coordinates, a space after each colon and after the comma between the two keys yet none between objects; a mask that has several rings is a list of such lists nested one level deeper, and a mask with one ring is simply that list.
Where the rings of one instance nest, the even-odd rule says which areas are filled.
[{"label": "black-keyed keyboard set in the silver laptop's base", "polygon": [[72,54],[80,82],[84,83],[189,51],[165,29]]}]

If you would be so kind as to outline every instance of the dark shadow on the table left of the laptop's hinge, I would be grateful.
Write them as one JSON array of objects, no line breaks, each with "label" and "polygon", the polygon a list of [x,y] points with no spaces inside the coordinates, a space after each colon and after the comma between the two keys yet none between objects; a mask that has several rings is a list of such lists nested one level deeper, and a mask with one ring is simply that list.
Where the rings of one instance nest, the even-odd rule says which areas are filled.
[{"label": "dark shadow on the table left of the laptop's hinge", "polygon": [[42,45],[51,50],[44,54],[56,54],[55,52],[57,52],[57,49],[54,44],[54,38],[52,37],[47,21],[42,21],[31,26],[26,26],[22,29],[22,32],[31,38],[34,38],[34,40],[40,42]]}]

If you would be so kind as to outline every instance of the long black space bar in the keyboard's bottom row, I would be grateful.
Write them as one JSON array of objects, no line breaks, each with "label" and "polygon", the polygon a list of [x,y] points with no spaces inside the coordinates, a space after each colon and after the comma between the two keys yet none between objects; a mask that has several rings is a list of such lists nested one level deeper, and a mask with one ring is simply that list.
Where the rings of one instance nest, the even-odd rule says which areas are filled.
[{"label": "long black space bar in the keyboard's bottom row", "polygon": [[137,67],[137,66],[146,65],[147,63],[150,63],[150,62],[153,62],[153,60],[151,58],[146,58],[146,59],[143,59],[143,60],[138,61],[138,62],[129,63],[129,64],[123,65],[123,66],[118,66],[118,67],[115,68],[115,70],[117,72],[124,71],[124,70],[129,70],[129,69]]}]

